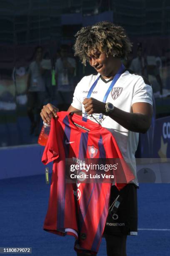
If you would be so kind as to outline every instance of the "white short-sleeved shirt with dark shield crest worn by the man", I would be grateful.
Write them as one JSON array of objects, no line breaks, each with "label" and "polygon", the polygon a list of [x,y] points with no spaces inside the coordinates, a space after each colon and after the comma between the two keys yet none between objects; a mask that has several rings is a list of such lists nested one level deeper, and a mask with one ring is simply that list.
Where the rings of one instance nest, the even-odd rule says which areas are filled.
[{"label": "white short-sleeved shirt with dark shield crest worn by the man", "polygon": [[[100,74],[96,74],[81,79],[75,88],[71,104],[72,107],[84,112],[84,105],[82,102],[84,98],[87,97],[90,87],[99,76]],[[102,101],[111,82],[112,80],[105,81],[105,79],[100,77],[92,91],[91,97]],[[152,87],[145,78],[137,74],[131,74],[131,71],[125,70],[112,88],[106,102],[111,102],[116,108],[132,113],[132,105],[136,102],[147,102],[153,105]],[[93,115],[96,119],[99,118],[99,114]],[[95,121],[93,118],[91,118],[91,120]],[[122,156],[135,175],[133,182],[138,186],[135,151],[138,147],[139,133],[128,131],[112,118],[105,115],[102,120],[102,126],[107,128],[115,137],[120,151],[122,152]]]}]

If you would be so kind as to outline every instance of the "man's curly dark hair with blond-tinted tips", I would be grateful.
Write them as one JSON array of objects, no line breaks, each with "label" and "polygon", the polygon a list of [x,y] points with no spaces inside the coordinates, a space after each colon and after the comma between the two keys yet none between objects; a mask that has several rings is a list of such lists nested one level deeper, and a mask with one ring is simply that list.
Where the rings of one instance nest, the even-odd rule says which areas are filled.
[{"label": "man's curly dark hair with blond-tinted tips", "polygon": [[75,38],[75,56],[79,56],[84,65],[89,61],[89,56],[96,51],[104,52],[107,56],[127,59],[132,48],[124,28],[109,21],[81,28],[75,34]]}]

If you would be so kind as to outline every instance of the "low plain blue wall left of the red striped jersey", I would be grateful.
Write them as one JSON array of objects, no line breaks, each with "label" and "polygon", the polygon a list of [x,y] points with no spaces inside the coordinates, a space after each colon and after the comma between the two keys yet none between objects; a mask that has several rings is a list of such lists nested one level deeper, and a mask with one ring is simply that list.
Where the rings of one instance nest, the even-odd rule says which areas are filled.
[{"label": "low plain blue wall left of the red striped jersey", "polygon": [[[45,174],[43,150],[38,144],[0,148],[0,179]],[[47,166],[52,171],[52,163]]]}]

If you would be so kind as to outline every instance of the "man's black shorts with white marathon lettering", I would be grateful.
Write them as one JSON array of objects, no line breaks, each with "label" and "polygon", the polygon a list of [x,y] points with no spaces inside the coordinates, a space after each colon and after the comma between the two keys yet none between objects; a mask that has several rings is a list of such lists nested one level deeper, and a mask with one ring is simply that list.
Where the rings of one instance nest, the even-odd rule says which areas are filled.
[{"label": "man's black shorts with white marathon lettering", "polygon": [[137,186],[133,183],[127,184],[120,191],[117,187],[111,187],[110,205],[120,195],[122,201],[116,214],[107,215],[104,234],[107,235],[137,235],[138,234],[138,205]]}]

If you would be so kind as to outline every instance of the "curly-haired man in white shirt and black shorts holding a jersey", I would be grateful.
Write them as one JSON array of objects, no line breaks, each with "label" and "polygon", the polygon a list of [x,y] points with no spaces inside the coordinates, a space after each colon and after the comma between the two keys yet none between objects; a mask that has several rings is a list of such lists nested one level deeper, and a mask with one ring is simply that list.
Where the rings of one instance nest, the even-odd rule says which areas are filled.
[{"label": "curly-haired man in white shirt and black shorts holding a jersey", "polygon": [[[145,133],[150,128],[152,88],[145,78],[122,65],[121,60],[127,58],[132,44],[121,26],[102,21],[82,28],[75,37],[75,56],[79,56],[84,65],[89,62],[96,74],[83,77],[77,84],[68,111],[82,110],[86,118],[93,114],[113,134],[135,176],[133,182],[120,192],[115,185],[112,186],[110,204],[117,195],[122,201],[116,214],[108,215],[104,231],[107,255],[125,256],[127,236],[137,235],[138,231],[135,151],[139,133]],[[41,117],[50,122],[52,117],[57,116],[57,111],[55,106],[47,104],[41,111]]]}]

